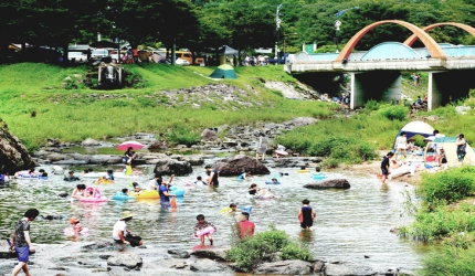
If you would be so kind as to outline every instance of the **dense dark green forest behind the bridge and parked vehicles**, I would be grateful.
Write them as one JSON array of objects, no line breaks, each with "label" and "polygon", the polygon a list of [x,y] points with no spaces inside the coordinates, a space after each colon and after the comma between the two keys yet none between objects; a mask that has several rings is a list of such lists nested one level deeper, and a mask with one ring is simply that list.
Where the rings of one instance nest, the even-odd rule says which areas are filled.
[{"label": "dense dark green forest behind the bridge and parked vehicles", "polygon": [[[21,0],[0,2],[0,46],[6,50],[12,42],[66,46],[95,41],[101,33],[133,46],[170,47],[175,42],[193,52],[224,44],[241,51],[273,47],[277,41],[282,49],[285,38],[286,52],[292,53],[303,43],[334,45],[336,13],[345,10],[339,18],[340,45],[379,20],[398,19],[419,26],[436,22],[475,25],[475,0]],[[357,50],[384,41],[402,42],[410,34],[399,25],[382,25],[369,32]],[[474,41],[453,26],[430,34],[437,42]]]}]

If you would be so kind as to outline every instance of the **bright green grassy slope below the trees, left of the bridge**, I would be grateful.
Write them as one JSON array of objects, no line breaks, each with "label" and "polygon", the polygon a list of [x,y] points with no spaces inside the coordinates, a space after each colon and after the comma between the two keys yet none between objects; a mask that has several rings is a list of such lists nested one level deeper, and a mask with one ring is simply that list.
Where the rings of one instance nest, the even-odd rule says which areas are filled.
[{"label": "bright green grassy slope below the trees, left of the bridge", "polygon": [[[157,102],[160,92],[218,83],[204,78],[212,68],[172,67],[167,65],[129,66],[133,73],[146,79],[145,88],[94,91],[80,86],[65,89],[66,76],[84,74],[85,67],[59,67],[40,63],[20,63],[0,66],[0,114],[10,130],[30,149],[48,138],[80,141],[91,137],[102,139],[137,131],[166,132],[197,137],[205,127],[246,125],[255,121],[283,121],[297,116],[325,117],[332,105],[317,102],[289,100],[264,88],[256,77],[267,81],[293,81],[281,66],[236,68],[239,79],[224,81],[241,88],[253,87],[250,100],[261,103],[251,108],[225,108],[233,103],[170,106]],[[92,94],[104,96],[91,97]],[[108,98],[107,96],[110,96]],[[155,96],[155,97],[151,97]]]}]

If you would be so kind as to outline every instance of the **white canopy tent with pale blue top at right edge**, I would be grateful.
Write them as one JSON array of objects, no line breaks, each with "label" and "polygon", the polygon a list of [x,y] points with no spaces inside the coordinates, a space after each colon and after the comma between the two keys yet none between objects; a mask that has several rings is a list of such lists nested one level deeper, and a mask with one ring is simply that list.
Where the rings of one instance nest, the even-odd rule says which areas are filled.
[{"label": "white canopy tent with pale blue top at right edge", "polygon": [[[426,161],[428,150],[434,148],[434,146],[437,145],[437,148],[444,149],[445,159],[447,159],[448,168],[461,166],[461,162],[458,162],[457,158],[457,145],[455,145],[456,141],[457,138],[455,137],[436,137],[432,141],[429,141],[424,150],[424,162]],[[475,166],[475,152],[473,151],[468,142],[465,151],[466,155],[462,163]]]}]

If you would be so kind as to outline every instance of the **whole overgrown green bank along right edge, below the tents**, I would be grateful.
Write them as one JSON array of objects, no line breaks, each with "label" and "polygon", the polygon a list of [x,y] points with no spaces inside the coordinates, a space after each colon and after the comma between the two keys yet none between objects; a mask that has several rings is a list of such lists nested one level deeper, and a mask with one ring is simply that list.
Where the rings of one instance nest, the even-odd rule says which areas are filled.
[{"label": "whole overgrown green bank along right edge, below the tents", "polygon": [[474,167],[423,174],[416,193],[421,206],[407,204],[415,221],[400,234],[441,244],[423,259],[420,275],[475,275]]}]

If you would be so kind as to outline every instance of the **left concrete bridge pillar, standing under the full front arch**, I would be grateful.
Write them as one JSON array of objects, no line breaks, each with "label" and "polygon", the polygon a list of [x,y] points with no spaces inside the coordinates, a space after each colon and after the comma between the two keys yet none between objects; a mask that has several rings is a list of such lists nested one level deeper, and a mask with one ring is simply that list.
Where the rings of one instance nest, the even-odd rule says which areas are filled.
[{"label": "left concrete bridge pillar, standing under the full front arch", "polygon": [[402,77],[398,71],[371,71],[350,73],[351,103],[350,108],[362,107],[366,102],[401,100]]}]

